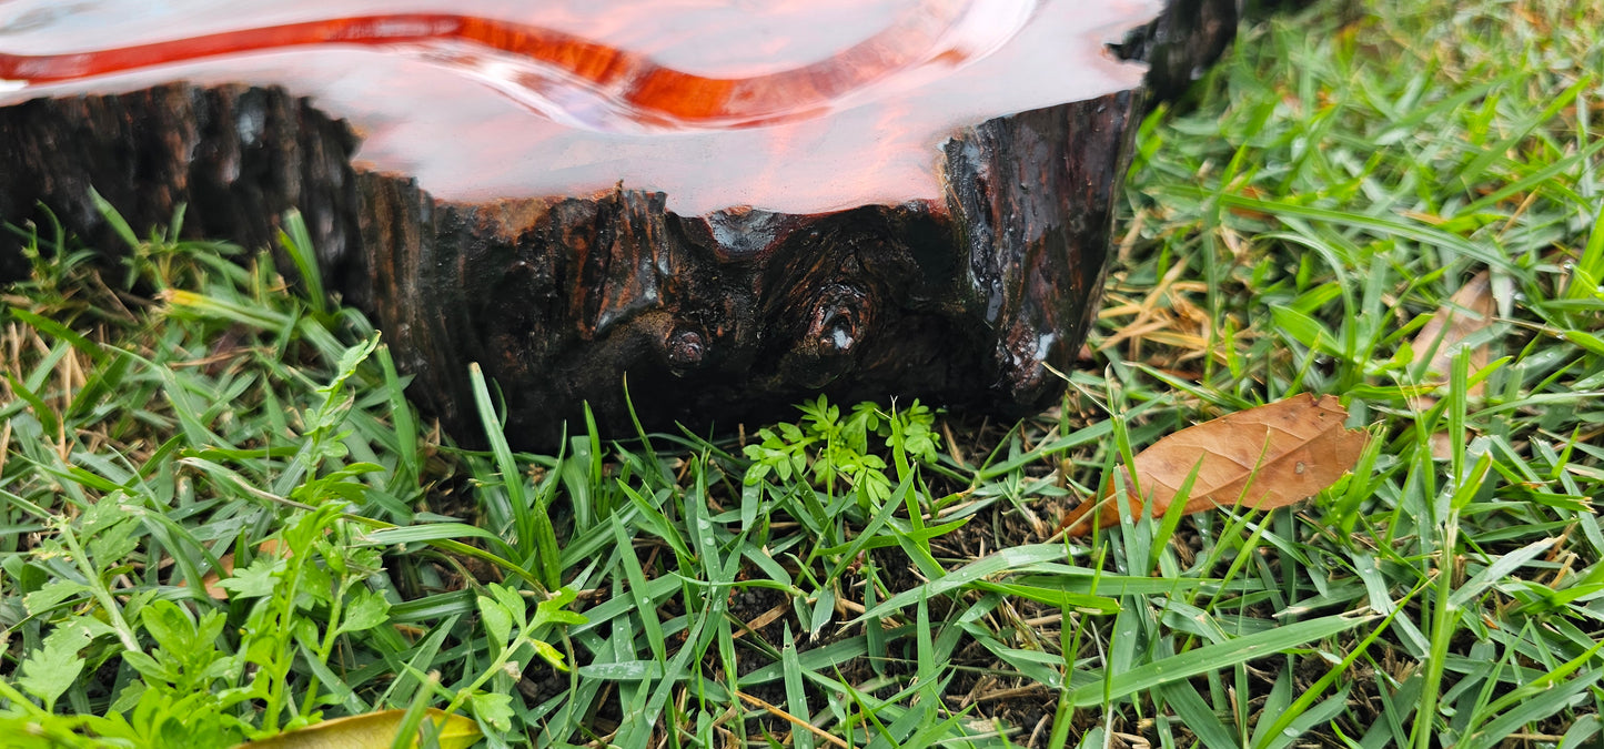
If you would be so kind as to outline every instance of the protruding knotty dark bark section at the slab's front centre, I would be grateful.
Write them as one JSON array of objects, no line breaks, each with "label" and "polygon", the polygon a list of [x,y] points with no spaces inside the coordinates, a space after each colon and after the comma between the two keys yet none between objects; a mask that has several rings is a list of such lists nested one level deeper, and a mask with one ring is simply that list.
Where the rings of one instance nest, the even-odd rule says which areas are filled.
[{"label": "protruding knotty dark bark section at the slab's front centre", "polygon": [[651,427],[730,427],[815,391],[1017,414],[1057,395],[1046,367],[1070,366],[1096,306],[1131,101],[969,130],[946,149],[945,207],[677,217],[638,191],[460,205],[361,175],[364,252],[342,287],[448,425],[473,417],[478,361],[534,443],[581,401],[627,431],[621,377]]}]

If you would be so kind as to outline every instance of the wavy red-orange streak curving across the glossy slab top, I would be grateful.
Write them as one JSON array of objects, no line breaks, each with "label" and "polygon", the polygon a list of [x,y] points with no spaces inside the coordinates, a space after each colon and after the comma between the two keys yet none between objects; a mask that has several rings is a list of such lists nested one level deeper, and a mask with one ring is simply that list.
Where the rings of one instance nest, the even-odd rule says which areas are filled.
[{"label": "wavy red-orange streak curving across the glossy slab top", "polygon": [[[411,13],[305,21],[111,50],[0,53],[0,79],[43,85],[250,51],[366,45],[414,51],[438,64],[468,69],[526,104],[550,101],[553,87],[566,85],[582,88],[582,95],[608,109],[622,111],[634,125],[751,127],[816,114],[892,74],[929,63],[958,64],[983,51],[942,48],[964,11],[962,3],[926,2],[829,58],[752,77],[696,75],[640,53],[537,26]],[[486,72],[489,63],[508,61],[513,63],[510,79],[507,71]],[[494,77],[500,80],[491,80]],[[547,114],[563,119],[560,111]]]}]

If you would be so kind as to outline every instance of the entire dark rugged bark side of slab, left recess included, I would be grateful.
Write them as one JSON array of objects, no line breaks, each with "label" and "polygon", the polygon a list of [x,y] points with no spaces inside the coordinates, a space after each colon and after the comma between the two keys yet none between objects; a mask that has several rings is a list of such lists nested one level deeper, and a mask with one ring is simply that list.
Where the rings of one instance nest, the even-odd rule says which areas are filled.
[{"label": "entire dark rugged bark side of slab, left recess included", "polygon": [[[45,207],[119,247],[93,186],[140,231],[186,204],[186,234],[266,247],[298,209],[326,282],[470,444],[468,362],[500,385],[521,447],[552,447],[584,403],[606,435],[632,435],[626,377],[646,428],[731,430],[812,393],[1014,415],[1060,393],[1051,369],[1071,366],[1096,311],[1142,101],[966,128],[938,200],[680,217],[624,188],[436,200],[353,167],[351,130],[305,99],[173,83],[0,107],[0,220],[50,226]],[[0,273],[24,273],[16,239],[0,242]]]}]

